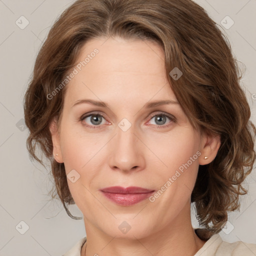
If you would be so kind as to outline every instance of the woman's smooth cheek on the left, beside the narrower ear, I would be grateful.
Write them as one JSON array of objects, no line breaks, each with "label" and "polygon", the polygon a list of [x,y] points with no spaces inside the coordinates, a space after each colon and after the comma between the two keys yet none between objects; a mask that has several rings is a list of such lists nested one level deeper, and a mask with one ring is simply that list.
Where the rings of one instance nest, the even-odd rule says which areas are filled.
[{"label": "woman's smooth cheek on the left, beside the narrower ear", "polygon": [[[94,164],[96,160],[95,154],[100,149],[100,145],[89,136],[81,137],[80,132],[67,128],[62,131],[61,152],[68,187],[76,205],[82,209],[84,202],[88,204],[94,199],[87,189],[90,190],[90,183],[97,175],[96,170],[99,169]],[[69,179],[69,176],[71,176],[69,172],[74,173],[75,182]],[[83,211],[85,213],[87,209],[83,209]],[[89,213],[87,212],[87,214]]]}]

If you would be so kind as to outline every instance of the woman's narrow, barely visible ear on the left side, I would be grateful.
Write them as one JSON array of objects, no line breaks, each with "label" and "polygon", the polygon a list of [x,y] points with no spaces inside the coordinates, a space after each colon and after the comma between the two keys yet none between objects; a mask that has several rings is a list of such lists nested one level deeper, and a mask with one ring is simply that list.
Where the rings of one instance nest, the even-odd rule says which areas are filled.
[{"label": "woman's narrow, barely visible ear on the left side", "polygon": [[[51,140],[53,145],[53,157],[59,163],[63,162],[61,149],[60,149],[60,139],[59,139],[59,132],[57,129],[57,120],[56,117],[53,117],[49,123],[49,130],[51,133]],[[56,155],[58,154],[58,155]]]}]

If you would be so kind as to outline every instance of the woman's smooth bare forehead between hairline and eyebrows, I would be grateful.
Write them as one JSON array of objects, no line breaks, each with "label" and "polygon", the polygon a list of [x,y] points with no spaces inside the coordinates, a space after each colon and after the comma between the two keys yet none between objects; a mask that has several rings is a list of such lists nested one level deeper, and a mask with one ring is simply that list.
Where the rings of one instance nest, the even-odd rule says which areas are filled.
[{"label": "woman's smooth bare forehead between hairline and eyebrows", "polygon": [[72,102],[88,94],[94,99],[104,97],[105,101],[107,95],[133,99],[139,96],[148,101],[156,94],[175,100],[166,78],[164,51],[156,42],[94,38],[82,46],[74,69],[77,73],[66,91]]}]

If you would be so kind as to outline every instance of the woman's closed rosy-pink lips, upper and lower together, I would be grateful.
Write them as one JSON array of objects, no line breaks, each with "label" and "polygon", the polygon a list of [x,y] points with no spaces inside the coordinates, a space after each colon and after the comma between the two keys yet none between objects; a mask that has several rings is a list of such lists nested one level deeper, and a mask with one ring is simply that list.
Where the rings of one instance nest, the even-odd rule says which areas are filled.
[{"label": "woman's closed rosy-pink lips, upper and lower together", "polygon": [[123,206],[128,206],[148,198],[155,190],[137,186],[129,186],[126,188],[111,186],[102,188],[100,191],[111,201]]}]

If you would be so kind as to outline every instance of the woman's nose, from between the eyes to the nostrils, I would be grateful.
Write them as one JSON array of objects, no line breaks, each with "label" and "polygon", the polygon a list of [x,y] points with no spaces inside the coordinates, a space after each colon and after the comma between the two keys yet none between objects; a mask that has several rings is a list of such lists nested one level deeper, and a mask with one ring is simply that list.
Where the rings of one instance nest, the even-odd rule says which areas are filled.
[{"label": "woman's nose, from between the eyes to the nostrils", "polygon": [[141,170],[145,167],[145,145],[138,138],[133,126],[127,131],[116,128],[116,135],[109,143],[109,166],[114,170]]}]

